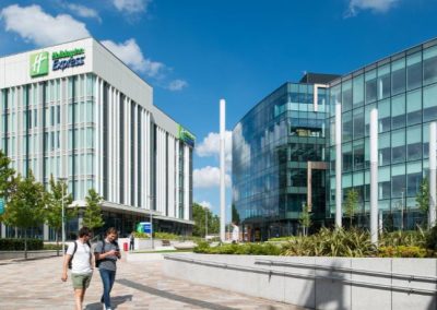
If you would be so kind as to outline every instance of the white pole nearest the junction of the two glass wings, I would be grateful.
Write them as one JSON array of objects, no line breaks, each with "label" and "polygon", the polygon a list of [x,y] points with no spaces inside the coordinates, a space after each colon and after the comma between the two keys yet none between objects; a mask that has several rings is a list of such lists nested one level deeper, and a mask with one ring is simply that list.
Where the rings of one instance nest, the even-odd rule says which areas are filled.
[{"label": "white pole nearest the junction of the two glass wings", "polygon": [[335,227],[342,227],[341,104],[335,104]]}]

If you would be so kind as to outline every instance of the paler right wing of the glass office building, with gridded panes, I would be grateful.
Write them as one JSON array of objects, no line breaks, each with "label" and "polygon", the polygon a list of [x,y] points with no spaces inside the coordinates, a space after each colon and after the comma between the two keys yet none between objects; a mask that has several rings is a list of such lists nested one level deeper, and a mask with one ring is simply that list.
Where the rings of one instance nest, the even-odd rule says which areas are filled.
[{"label": "paler right wing of the glass office building, with gridded panes", "polygon": [[437,40],[387,57],[330,84],[330,212],[335,213],[334,106],[342,110],[342,193],[359,196],[357,225],[369,220],[369,112],[378,109],[378,208],[387,229],[426,223],[416,195],[428,176],[429,122],[437,119]]}]

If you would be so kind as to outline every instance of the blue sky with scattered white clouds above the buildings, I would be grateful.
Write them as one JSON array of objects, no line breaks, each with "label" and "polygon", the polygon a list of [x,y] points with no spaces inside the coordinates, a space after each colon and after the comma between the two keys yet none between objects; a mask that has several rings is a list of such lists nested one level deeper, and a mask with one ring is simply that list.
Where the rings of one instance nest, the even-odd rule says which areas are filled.
[{"label": "blue sky with scattered white clouds above the buildings", "polygon": [[232,131],[305,71],[344,74],[437,37],[436,16],[437,0],[2,0],[0,55],[87,35],[105,41],[197,135],[194,201],[218,213],[220,98]]}]

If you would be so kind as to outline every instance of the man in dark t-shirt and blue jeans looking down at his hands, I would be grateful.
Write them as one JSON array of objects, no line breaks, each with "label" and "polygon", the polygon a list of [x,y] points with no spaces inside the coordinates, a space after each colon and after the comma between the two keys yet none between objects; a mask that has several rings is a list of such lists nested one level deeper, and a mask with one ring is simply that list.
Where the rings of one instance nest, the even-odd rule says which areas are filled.
[{"label": "man in dark t-shirt and blue jeans looking down at his hands", "polygon": [[117,229],[114,227],[108,228],[105,239],[97,242],[94,250],[96,266],[98,267],[103,283],[101,302],[105,305],[106,310],[111,310],[110,290],[116,279],[117,260],[121,259],[117,238]]}]

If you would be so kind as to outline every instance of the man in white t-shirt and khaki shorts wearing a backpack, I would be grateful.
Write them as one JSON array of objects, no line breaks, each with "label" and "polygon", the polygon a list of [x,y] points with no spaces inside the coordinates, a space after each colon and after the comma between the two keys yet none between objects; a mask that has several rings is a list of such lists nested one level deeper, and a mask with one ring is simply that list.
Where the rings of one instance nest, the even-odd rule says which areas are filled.
[{"label": "man in white t-shirt and khaki shorts wearing a backpack", "polygon": [[75,309],[82,310],[83,298],[85,290],[88,288],[93,276],[93,255],[91,252],[90,238],[91,230],[87,227],[82,227],[79,230],[79,238],[71,243],[63,259],[62,277],[67,281],[67,269],[71,265],[71,281],[74,288]]}]

